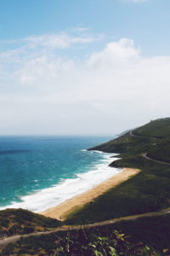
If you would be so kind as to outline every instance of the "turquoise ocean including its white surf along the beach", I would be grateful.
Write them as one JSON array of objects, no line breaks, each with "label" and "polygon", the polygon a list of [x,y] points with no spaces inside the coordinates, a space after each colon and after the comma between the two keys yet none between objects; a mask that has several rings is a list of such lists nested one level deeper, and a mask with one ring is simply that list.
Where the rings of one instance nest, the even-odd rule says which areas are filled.
[{"label": "turquoise ocean including its white surf along the beach", "polygon": [[113,137],[0,137],[0,210],[42,212],[112,177],[114,154],[87,151]]}]

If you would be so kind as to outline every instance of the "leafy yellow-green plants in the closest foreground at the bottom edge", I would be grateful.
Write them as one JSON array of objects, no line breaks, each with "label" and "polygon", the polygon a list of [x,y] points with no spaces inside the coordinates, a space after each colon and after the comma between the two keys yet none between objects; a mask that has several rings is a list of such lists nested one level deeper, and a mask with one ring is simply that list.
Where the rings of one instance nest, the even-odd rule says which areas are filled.
[{"label": "leafy yellow-green plants in the closest foreground at the bottom edge", "polygon": [[77,233],[68,232],[67,236],[57,238],[54,255],[156,255],[154,248],[147,247],[142,242],[130,244],[128,237],[116,230],[110,236],[98,236],[94,232],[77,230]]}]

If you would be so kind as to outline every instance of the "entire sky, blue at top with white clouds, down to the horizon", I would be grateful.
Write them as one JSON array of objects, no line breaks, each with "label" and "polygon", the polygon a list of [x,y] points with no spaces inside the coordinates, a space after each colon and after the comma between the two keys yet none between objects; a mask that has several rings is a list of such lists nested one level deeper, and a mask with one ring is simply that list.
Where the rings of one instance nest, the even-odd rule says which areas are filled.
[{"label": "entire sky, blue at top with white clouds, down to the horizon", "polygon": [[170,115],[169,0],[2,0],[0,135],[115,135]]}]

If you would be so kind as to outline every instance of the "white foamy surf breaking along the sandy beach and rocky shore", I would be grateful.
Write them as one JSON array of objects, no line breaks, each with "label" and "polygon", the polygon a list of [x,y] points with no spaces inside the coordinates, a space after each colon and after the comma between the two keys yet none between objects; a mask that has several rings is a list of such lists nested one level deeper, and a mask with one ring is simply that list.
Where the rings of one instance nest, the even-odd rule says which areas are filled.
[{"label": "white foamy surf breaking along the sandy beach and rocky shore", "polygon": [[[87,150],[85,149],[82,152],[87,154]],[[59,183],[48,189],[41,189],[35,193],[31,193],[31,195],[21,196],[20,202],[12,202],[7,207],[0,207],[0,210],[6,208],[24,208],[32,212],[42,212],[88,191],[99,183],[116,175],[118,172],[122,172],[122,169],[108,166],[112,161],[118,159],[116,157],[117,154],[106,154],[100,151],[90,151],[88,153],[103,154],[104,158],[92,166],[88,172],[77,173],[76,178],[62,179]]]}]

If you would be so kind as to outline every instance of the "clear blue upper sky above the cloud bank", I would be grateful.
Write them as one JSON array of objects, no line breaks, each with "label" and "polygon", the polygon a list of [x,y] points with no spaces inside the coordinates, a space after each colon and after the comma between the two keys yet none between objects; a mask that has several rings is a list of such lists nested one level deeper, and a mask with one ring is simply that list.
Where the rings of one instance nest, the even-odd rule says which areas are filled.
[{"label": "clear blue upper sky above the cloud bank", "polygon": [[5,40],[80,26],[108,39],[133,38],[145,55],[167,55],[169,9],[168,0],[6,0],[1,2],[0,33]]}]

